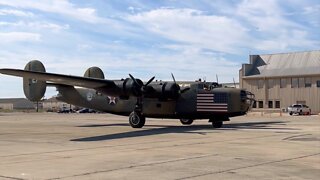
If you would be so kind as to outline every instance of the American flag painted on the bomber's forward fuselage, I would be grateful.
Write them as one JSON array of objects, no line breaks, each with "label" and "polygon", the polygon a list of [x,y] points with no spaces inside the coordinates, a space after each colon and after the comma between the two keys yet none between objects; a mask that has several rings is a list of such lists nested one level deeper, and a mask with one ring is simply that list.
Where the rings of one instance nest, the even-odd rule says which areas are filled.
[{"label": "American flag painted on the bomber's forward fuselage", "polygon": [[201,93],[197,94],[198,112],[228,112],[227,93]]}]

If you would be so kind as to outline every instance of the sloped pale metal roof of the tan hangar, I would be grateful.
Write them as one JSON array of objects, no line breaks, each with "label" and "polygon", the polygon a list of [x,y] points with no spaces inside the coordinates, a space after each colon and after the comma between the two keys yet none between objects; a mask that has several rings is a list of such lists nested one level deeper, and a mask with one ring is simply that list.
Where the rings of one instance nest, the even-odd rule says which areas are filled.
[{"label": "sloped pale metal roof of the tan hangar", "polygon": [[246,77],[320,75],[320,50],[250,56]]}]

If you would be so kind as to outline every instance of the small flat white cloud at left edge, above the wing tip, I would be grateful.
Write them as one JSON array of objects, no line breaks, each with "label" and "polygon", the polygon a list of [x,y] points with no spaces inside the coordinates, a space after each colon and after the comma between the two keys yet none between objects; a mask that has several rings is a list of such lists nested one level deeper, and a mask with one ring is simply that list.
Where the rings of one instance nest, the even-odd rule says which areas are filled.
[{"label": "small flat white cloud at left edge, above the wing tip", "polygon": [[29,33],[29,32],[8,32],[2,33],[0,32],[0,39],[2,43],[8,42],[19,42],[19,41],[26,41],[26,42],[36,42],[41,41],[41,35],[36,33]]}]

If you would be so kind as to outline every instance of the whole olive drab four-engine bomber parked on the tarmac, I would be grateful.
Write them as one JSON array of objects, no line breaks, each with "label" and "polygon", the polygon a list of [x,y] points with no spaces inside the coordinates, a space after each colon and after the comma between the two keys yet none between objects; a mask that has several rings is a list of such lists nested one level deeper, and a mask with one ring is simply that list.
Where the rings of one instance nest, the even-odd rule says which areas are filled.
[{"label": "whole olive drab four-engine bomber parked on the tarmac", "polygon": [[155,81],[133,77],[105,79],[98,67],[87,69],[84,77],[47,73],[44,65],[30,61],[24,68],[0,69],[0,73],[23,77],[23,90],[30,101],[40,101],[48,86],[56,87],[57,99],[80,107],[129,116],[133,128],[141,128],[146,118],[180,119],[184,125],[209,119],[220,128],[229,117],[248,112],[254,95],[215,82]]}]

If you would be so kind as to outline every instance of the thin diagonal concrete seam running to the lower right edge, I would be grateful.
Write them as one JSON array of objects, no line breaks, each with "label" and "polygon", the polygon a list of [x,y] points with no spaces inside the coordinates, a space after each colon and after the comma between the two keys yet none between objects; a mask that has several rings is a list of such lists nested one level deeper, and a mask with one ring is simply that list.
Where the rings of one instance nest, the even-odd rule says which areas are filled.
[{"label": "thin diagonal concrete seam running to the lower right edge", "polygon": [[249,165],[249,166],[242,166],[242,167],[237,167],[237,168],[231,168],[231,169],[226,169],[226,170],[221,170],[221,171],[214,171],[214,172],[199,174],[199,175],[195,175],[195,176],[188,176],[188,177],[178,178],[178,179],[175,179],[175,180],[193,179],[193,178],[203,177],[203,176],[212,175],[212,174],[221,174],[221,173],[226,173],[226,172],[240,170],[240,169],[247,169],[247,168],[263,166],[263,165],[267,165],[267,164],[274,164],[274,163],[292,161],[292,160],[296,160],[296,159],[303,159],[303,158],[312,157],[312,156],[318,156],[318,155],[320,155],[320,153],[309,154],[309,155],[298,156],[298,157],[287,158],[287,159],[281,159],[281,160],[276,160],[276,161],[268,161],[268,162],[253,164],[253,165]]}]

